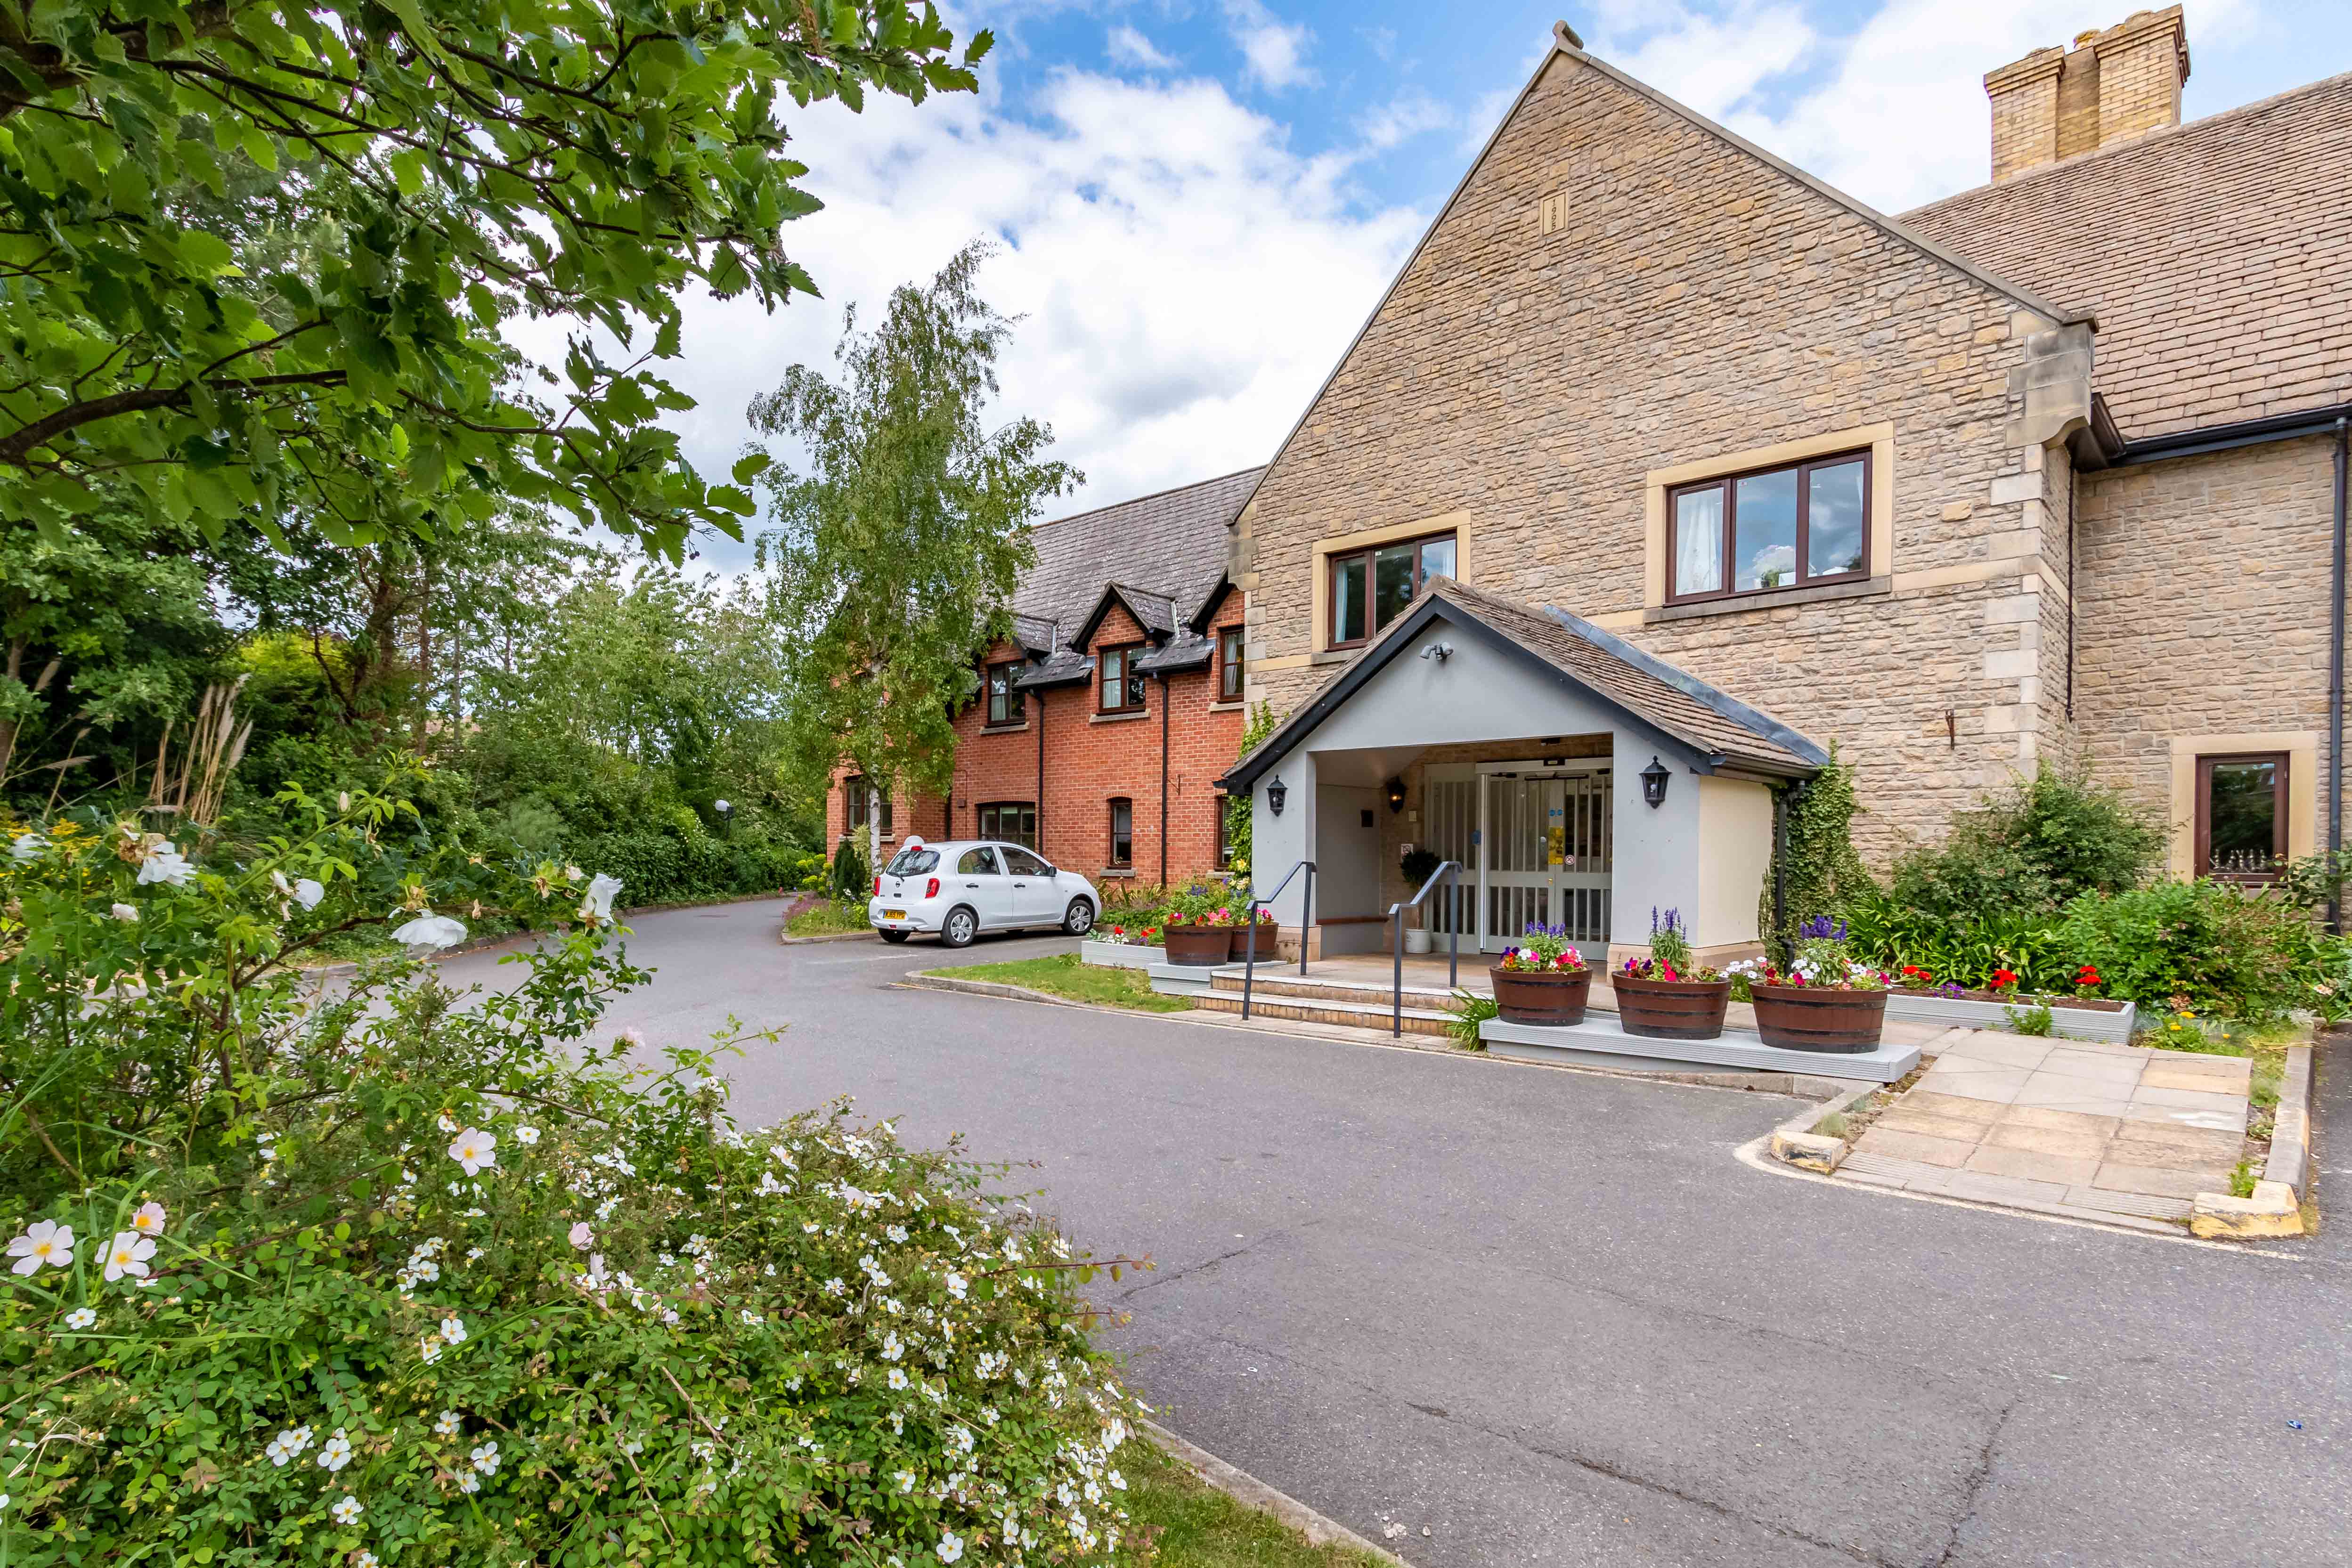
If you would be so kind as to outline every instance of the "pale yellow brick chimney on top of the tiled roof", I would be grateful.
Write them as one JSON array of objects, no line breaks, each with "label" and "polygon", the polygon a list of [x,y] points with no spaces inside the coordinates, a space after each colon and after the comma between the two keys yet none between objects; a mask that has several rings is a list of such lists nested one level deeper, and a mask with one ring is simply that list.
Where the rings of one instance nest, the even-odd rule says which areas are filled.
[{"label": "pale yellow brick chimney on top of the tiled roof", "polygon": [[2072,47],[2034,49],[1985,75],[1992,179],[2180,125],[2190,38],[2180,7],[2133,12]]}]

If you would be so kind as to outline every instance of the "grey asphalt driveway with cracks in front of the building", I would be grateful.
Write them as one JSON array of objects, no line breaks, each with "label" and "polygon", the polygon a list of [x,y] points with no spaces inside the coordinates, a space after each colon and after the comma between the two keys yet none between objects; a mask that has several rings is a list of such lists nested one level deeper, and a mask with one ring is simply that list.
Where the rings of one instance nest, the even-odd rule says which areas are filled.
[{"label": "grey asphalt driveway with cracks in front of the building", "polygon": [[1167,1422],[1409,1523],[1414,1563],[2352,1559],[2333,1232],[2216,1251],[1797,1180],[1733,1159],[1790,1100],[901,992],[953,954],[781,950],[776,907],[642,917],[659,973],[614,1027],[783,1023],[734,1072],[753,1119],[854,1093],[1037,1161],[1096,1251],[1160,1265],[1103,1300]]}]

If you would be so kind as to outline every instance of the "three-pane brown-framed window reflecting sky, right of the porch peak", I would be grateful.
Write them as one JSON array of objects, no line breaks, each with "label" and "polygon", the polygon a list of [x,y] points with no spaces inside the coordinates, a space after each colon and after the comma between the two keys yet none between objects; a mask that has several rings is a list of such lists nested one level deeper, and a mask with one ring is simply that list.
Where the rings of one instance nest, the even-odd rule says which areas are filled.
[{"label": "three-pane brown-framed window reflecting sky, right of the porch peak", "polygon": [[1665,494],[1665,602],[1870,576],[1870,454],[1677,484]]}]

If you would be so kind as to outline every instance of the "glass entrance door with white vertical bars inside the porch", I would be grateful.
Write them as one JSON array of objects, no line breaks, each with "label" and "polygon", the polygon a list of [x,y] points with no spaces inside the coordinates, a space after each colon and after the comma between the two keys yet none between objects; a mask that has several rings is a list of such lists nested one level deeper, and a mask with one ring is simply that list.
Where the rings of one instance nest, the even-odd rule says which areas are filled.
[{"label": "glass entrance door with white vertical bars inside the porch", "polygon": [[1529,926],[1606,945],[1609,771],[1489,773],[1484,785],[1479,950],[1501,952]]}]

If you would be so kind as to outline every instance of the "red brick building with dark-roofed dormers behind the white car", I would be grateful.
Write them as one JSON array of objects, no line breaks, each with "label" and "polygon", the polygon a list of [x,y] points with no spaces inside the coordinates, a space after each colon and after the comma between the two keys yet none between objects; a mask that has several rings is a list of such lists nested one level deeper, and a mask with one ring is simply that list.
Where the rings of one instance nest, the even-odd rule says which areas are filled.
[{"label": "red brick building with dark-roofed dormers behind the white car", "polygon": [[[1258,470],[1122,501],[1035,531],[1014,639],[988,649],[955,717],[948,799],[894,799],[882,837],[993,837],[1101,882],[1225,865],[1223,795],[1244,726],[1230,524]],[[830,837],[866,830],[835,776]]]}]

